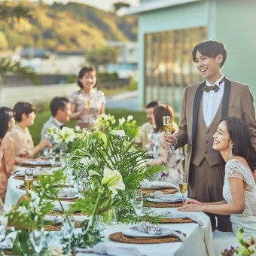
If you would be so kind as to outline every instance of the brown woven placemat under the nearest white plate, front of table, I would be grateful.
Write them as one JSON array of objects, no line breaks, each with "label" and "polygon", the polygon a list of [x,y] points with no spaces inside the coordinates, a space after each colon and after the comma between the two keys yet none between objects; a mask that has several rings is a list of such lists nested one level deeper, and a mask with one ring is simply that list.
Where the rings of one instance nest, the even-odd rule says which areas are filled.
[{"label": "brown woven placemat under the nearest white plate, front of table", "polygon": [[125,242],[133,244],[155,244],[163,242],[180,242],[181,240],[177,236],[164,236],[163,238],[145,238],[145,237],[134,237],[134,236],[125,236],[122,232],[111,233],[109,238],[114,242]]}]

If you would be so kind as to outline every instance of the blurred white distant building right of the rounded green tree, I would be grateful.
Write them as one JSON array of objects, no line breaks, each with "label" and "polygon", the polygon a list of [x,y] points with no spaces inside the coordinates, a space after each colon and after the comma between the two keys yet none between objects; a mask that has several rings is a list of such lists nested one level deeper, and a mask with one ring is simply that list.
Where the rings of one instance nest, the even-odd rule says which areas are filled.
[{"label": "blurred white distant building right of the rounded green tree", "polygon": [[117,63],[109,63],[107,72],[117,72],[119,78],[137,76],[138,72],[138,43],[135,41],[108,41],[106,46],[117,49]]}]

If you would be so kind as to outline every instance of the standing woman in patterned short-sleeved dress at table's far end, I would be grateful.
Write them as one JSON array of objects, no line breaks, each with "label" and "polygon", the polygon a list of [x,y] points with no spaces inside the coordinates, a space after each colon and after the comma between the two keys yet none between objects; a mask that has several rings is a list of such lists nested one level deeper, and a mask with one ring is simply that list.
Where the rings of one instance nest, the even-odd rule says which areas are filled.
[{"label": "standing woman in patterned short-sleeved dress at table's far end", "polygon": [[93,66],[84,66],[78,75],[78,86],[81,90],[72,93],[71,120],[78,120],[77,126],[81,129],[91,129],[99,114],[105,113],[105,95],[97,90],[96,69]]}]

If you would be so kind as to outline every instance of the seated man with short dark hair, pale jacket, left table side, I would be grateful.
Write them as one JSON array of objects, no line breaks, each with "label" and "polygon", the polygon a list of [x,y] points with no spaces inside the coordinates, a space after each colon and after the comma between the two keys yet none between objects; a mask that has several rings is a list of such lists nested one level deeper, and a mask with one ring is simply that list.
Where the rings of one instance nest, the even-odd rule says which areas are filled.
[{"label": "seated man with short dark hair, pale jacket, left table side", "polygon": [[[44,123],[44,127],[41,130],[41,140],[47,137],[48,129],[51,127],[62,129],[64,122],[69,121],[69,117],[72,114],[69,100],[64,97],[55,97],[50,102],[51,117]],[[54,144],[53,138],[50,140]],[[56,148],[56,151],[62,149],[62,145]]]}]

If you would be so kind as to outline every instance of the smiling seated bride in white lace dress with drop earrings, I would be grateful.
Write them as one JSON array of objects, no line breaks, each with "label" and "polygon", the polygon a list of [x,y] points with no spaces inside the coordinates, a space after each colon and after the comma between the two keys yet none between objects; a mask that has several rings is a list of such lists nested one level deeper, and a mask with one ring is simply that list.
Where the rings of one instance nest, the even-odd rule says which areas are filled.
[{"label": "smiling seated bride in white lace dress with drop earrings", "polygon": [[256,238],[256,186],[251,170],[256,169],[256,154],[248,127],[236,117],[224,117],[213,136],[213,148],[221,152],[226,162],[223,187],[224,201],[200,203],[187,200],[179,211],[211,212],[230,215],[233,233],[215,231],[215,253],[230,246],[237,247],[236,232],[243,228],[243,239]]}]

